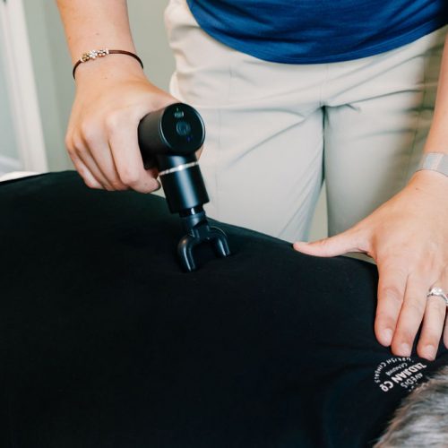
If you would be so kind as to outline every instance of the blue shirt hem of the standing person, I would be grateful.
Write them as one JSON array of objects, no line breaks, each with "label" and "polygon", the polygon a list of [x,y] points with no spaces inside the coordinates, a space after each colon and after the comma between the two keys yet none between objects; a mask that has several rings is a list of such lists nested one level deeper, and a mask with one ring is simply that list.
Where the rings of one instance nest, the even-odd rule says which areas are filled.
[{"label": "blue shirt hem of the standing person", "polygon": [[203,30],[272,62],[372,56],[448,23],[448,0],[187,0]]}]

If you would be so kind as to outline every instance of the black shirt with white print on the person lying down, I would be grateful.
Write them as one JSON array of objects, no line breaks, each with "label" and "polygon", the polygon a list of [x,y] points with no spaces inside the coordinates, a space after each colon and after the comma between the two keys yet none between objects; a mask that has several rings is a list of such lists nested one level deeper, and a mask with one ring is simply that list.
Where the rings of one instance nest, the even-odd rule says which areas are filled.
[{"label": "black shirt with white print on the person lying down", "polygon": [[73,172],[0,212],[2,447],[366,446],[447,364],[376,342],[369,263],[220,225],[233,255],[185,273],[164,199]]}]

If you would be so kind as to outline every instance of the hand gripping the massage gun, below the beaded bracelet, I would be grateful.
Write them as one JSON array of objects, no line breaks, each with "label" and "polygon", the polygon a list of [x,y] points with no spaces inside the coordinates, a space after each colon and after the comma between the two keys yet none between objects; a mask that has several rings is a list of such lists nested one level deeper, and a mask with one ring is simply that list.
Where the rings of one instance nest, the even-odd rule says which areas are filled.
[{"label": "hand gripping the massage gun, below the beaded bracelet", "polygon": [[80,65],[65,145],[85,184],[157,190],[157,171],[143,168],[137,127],[143,116],[176,101],[151,84],[133,58],[104,57]]}]

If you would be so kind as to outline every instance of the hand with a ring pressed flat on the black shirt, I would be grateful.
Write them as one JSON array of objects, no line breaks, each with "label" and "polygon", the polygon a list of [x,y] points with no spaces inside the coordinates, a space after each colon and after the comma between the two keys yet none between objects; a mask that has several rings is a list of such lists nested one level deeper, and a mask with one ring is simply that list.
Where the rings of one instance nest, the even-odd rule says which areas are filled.
[{"label": "hand with a ring pressed flat on the black shirt", "polygon": [[[335,256],[363,252],[379,271],[375,335],[396,356],[409,357],[421,325],[418,356],[434,359],[444,333],[447,306],[427,297],[433,287],[448,291],[448,178],[418,171],[399,194],[334,237],[297,242],[304,254]],[[362,297],[360,297],[361,299]]]}]

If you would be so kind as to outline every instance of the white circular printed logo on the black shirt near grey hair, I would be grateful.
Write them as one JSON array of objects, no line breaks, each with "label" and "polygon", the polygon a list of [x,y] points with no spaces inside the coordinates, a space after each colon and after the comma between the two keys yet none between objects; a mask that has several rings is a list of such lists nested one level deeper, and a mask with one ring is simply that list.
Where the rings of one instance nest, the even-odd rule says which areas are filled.
[{"label": "white circular printed logo on the black shirt near grey hair", "polygon": [[374,381],[383,392],[403,387],[408,392],[423,380],[427,365],[412,358],[389,358],[375,369]]}]

